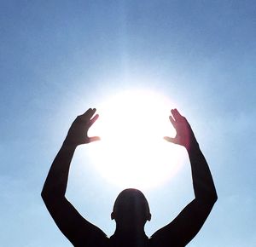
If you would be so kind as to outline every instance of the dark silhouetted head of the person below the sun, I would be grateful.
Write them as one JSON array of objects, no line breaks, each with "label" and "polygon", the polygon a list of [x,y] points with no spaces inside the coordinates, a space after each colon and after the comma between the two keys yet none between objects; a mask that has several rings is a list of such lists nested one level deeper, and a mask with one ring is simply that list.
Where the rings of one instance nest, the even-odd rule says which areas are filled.
[{"label": "dark silhouetted head of the person below the sun", "polygon": [[122,227],[143,227],[151,220],[148,201],[143,192],[137,189],[125,189],[119,193],[113,204],[111,219]]}]

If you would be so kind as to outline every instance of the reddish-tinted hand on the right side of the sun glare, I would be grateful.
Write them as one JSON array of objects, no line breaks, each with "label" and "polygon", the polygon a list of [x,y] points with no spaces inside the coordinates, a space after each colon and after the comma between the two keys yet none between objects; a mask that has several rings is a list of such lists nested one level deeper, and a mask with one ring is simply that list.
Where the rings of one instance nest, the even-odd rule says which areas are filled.
[{"label": "reddish-tinted hand on the right side of the sun glare", "polygon": [[165,136],[164,139],[189,149],[189,146],[196,142],[195,135],[189,125],[189,122],[177,111],[177,109],[172,109],[171,112],[172,115],[169,116],[169,119],[176,130],[176,136],[174,138]]}]

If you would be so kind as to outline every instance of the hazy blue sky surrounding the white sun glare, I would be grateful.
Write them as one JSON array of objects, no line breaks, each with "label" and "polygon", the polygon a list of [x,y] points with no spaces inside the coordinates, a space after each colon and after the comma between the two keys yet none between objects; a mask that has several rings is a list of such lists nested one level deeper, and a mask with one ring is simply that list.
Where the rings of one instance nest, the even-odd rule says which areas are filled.
[{"label": "hazy blue sky surrounding the white sun glare", "polygon": [[[71,246],[40,198],[49,166],[76,115],[139,87],[177,103],[212,170],[218,202],[188,246],[255,246],[255,13],[254,1],[1,1],[1,244]],[[118,193],[74,158],[67,197],[108,235]],[[189,164],[145,194],[151,235],[193,198]]]}]

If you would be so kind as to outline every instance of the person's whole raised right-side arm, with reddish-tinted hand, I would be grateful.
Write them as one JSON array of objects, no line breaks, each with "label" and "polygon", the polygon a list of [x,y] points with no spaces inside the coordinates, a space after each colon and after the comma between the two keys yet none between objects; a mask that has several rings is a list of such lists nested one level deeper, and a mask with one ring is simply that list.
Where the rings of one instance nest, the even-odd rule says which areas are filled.
[{"label": "person's whole raised right-side arm, with reddish-tinted hand", "polygon": [[[166,227],[152,236],[161,241],[163,246],[185,246],[195,237],[217,200],[217,193],[212,175],[195,135],[187,121],[177,109],[173,109],[170,121],[176,129],[174,138],[166,136],[166,141],[184,146],[189,154],[195,199]],[[162,242],[163,241],[163,242]]]}]

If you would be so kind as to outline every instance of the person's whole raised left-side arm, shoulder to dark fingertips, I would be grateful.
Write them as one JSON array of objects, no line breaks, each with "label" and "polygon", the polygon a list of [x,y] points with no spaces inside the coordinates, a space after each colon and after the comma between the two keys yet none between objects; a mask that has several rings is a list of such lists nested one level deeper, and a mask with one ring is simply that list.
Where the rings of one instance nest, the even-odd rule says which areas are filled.
[{"label": "person's whole raised left-side arm, shoulder to dark fingertips", "polygon": [[96,109],[89,109],[74,120],[49,169],[41,193],[44,204],[56,225],[75,246],[80,246],[82,243],[86,246],[86,243],[94,241],[90,238],[99,239],[105,236],[100,229],[79,215],[65,197],[69,168],[76,147],[99,140],[97,136],[88,137],[87,135],[88,129],[98,118],[98,115],[94,116],[95,112]]}]

